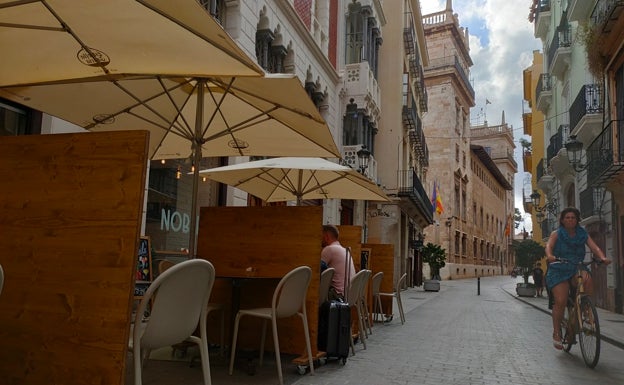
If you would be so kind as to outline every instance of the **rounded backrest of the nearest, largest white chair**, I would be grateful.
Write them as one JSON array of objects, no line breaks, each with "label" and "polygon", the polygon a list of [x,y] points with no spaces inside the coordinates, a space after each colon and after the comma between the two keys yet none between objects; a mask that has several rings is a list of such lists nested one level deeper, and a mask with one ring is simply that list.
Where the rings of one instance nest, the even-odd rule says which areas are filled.
[{"label": "rounded backrest of the nearest, largest white chair", "polygon": [[147,325],[134,328],[134,343],[140,340],[143,347],[159,348],[190,337],[206,312],[214,281],[214,266],[205,259],[180,262],[160,274],[137,309],[135,325],[153,298]]}]

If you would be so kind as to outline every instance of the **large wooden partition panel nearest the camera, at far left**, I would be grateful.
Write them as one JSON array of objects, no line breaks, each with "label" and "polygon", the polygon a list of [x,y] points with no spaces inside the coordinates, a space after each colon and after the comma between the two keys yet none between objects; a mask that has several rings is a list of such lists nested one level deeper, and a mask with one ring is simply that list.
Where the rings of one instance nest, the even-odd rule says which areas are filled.
[{"label": "large wooden partition panel nearest the camera, at far left", "polygon": [[124,383],[148,140],[0,140],[0,383]]}]

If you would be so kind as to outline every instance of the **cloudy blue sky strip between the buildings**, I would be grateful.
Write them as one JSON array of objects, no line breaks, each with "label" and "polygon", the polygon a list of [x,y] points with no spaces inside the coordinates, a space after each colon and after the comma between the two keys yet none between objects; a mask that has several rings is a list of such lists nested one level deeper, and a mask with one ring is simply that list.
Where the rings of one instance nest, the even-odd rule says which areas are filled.
[{"label": "cloudy blue sky strip between the buildings", "polygon": [[[470,35],[470,80],[475,90],[475,107],[470,111],[472,124],[501,124],[503,111],[505,121],[513,127],[518,162],[515,177],[515,207],[524,213],[522,188],[525,174],[522,166],[520,138],[530,140],[523,134],[522,126],[522,72],[531,65],[533,51],[541,49],[541,42],[533,36],[533,24],[528,21],[531,0],[453,0],[453,13],[458,15],[459,25],[468,28]],[[423,15],[442,11],[446,0],[420,0]],[[490,103],[486,104],[486,100]],[[520,224],[531,231],[529,215]]]}]

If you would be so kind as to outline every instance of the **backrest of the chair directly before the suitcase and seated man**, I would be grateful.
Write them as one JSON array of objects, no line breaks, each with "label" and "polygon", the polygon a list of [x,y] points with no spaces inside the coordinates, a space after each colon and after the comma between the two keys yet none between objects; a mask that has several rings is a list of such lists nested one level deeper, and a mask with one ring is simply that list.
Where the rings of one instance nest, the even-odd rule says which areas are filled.
[{"label": "backrest of the chair directly before the suitcase and seated man", "polygon": [[305,305],[312,269],[299,266],[289,271],[275,288],[272,307],[277,318],[290,317]]}]

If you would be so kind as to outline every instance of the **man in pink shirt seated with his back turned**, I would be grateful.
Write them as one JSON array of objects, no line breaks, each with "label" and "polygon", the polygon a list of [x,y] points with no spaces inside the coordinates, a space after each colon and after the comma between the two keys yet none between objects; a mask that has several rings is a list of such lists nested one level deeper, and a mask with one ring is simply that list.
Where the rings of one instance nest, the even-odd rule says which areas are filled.
[{"label": "man in pink shirt seated with his back turned", "polygon": [[347,270],[347,249],[338,242],[338,228],[333,225],[323,226],[323,251],[321,251],[321,261],[327,267],[333,267],[336,271],[329,288],[329,299],[344,299],[345,283],[355,275],[355,265],[353,257],[349,254]]}]

